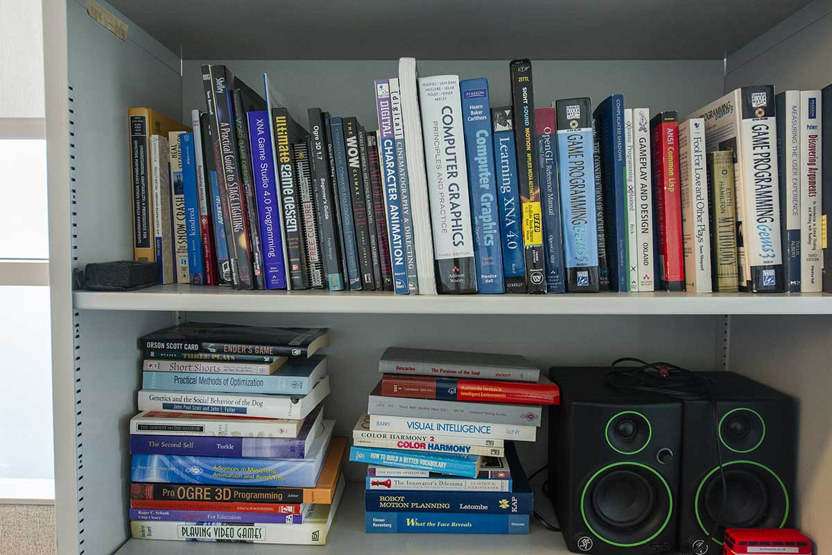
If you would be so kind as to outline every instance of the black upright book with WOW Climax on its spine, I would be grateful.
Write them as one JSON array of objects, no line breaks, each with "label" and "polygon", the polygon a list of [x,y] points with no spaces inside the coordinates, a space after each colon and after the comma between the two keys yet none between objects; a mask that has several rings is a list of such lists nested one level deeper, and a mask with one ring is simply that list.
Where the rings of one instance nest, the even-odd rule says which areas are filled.
[{"label": "black upright book with WOW Climax on its spine", "polygon": [[354,117],[344,117],[344,149],[347,156],[347,178],[353,207],[355,245],[361,273],[361,289],[375,290],[373,254],[367,224],[367,203],[364,201],[364,181],[361,176],[359,125]]}]

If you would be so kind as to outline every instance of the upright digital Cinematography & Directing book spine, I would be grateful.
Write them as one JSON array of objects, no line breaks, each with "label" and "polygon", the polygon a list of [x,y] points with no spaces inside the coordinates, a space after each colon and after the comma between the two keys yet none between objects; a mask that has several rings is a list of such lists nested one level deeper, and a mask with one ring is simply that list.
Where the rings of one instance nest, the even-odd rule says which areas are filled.
[{"label": "upright digital Cinematography & Directing book spine", "polygon": [[[408,275],[408,290],[417,295],[418,272],[416,268],[416,235],[414,219],[410,206],[410,179],[408,175],[408,156],[404,146],[404,120],[402,117],[402,98],[399,92],[399,79],[389,80],[390,118],[393,120],[393,138],[396,160],[396,185],[401,206],[402,237],[404,242],[404,265]],[[418,148],[422,148],[421,145]]]}]

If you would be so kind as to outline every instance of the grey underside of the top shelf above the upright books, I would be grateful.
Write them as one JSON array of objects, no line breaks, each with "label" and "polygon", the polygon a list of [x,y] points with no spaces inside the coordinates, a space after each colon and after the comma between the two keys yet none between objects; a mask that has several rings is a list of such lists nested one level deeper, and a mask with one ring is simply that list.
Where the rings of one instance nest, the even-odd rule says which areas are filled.
[{"label": "grey underside of the top shelf above the upright books", "polygon": [[110,3],[190,60],[721,60],[810,0]]}]

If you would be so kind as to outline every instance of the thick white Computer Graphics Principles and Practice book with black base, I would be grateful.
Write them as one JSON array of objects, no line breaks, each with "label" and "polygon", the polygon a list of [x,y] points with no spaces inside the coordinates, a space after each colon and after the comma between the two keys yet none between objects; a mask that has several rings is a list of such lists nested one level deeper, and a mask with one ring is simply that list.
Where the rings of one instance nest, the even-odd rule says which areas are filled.
[{"label": "thick white Computer Graphics Principles and Practice book with black base", "polygon": [[439,294],[477,292],[459,77],[418,80]]}]

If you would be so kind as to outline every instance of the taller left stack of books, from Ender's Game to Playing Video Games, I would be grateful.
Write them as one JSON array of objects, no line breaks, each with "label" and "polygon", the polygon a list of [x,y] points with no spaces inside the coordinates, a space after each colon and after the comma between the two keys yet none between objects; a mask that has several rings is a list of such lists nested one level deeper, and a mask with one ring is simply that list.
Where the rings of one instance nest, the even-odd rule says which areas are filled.
[{"label": "taller left stack of books, from Ender's Game to Playing Video Games", "polygon": [[191,322],[139,344],[133,538],[326,543],[347,445],[324,419],[327,330]]}]

